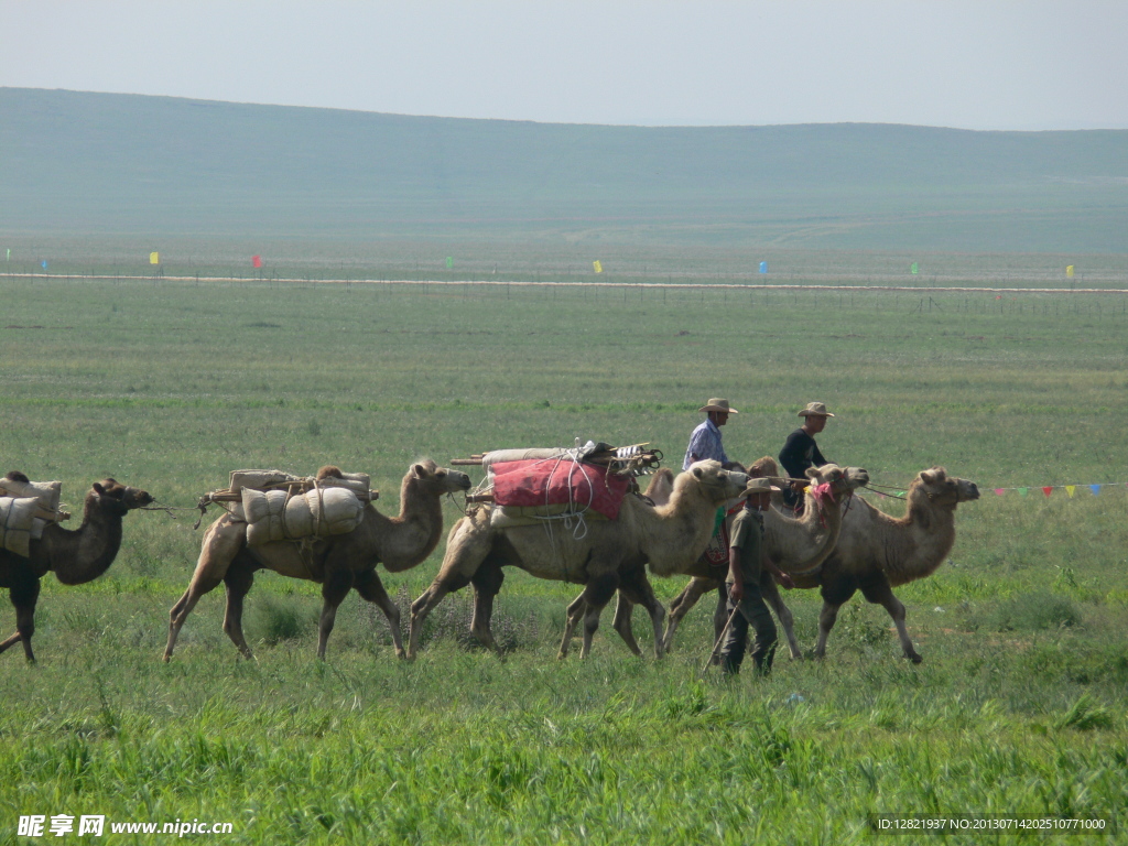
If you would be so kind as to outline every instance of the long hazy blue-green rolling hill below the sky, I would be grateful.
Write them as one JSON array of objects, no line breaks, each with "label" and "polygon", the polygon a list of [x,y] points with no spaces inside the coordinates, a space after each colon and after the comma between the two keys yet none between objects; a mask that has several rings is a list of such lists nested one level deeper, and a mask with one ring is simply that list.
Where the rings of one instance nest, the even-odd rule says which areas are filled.
[{"label": "long hazy blue-green rolling hill below the sky", "polygon": [[0,88],[0,232],[1128,253],[1128,131],[638,127]]}]

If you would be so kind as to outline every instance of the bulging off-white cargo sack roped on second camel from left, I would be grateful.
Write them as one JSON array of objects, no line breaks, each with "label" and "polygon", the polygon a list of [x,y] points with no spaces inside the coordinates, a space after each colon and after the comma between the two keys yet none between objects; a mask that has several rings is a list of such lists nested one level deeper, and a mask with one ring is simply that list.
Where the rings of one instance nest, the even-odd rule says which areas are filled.
[{"label": "bulging off-white cargo sack roped on second camel from left", "polygon": [[345,487],[321,487],[291,496],[285,491],[243,488],[247,545],[344,535],[360,526],[364,505]]}]

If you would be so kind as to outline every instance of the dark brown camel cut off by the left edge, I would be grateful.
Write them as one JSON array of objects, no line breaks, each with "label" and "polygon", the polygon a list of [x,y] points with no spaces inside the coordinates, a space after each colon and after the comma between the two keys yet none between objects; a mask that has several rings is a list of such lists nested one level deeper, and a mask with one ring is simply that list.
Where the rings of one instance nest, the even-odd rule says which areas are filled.
[{"label": "dark brown camel cut off by the left edge", "polygon": [[[18,470],[8,478],[27,482]],[[122,518],[126,512],[151,503],[152,496],[136,487],[127,487],[112,478],[95,482],[82,504],[82,525],[64,529],[50,523],[43,537],[30,541],[30,555],[0,549],[0,588],[8,588],[16,607],[16,634],[0,643],[0,652],[24,642],[24,655],[35,661],[32,635],[35,634],[35,602],[39,598],[39,579],[47,571],[63,584],[83,584],[105,573],[114,563],[122,545]]]}]

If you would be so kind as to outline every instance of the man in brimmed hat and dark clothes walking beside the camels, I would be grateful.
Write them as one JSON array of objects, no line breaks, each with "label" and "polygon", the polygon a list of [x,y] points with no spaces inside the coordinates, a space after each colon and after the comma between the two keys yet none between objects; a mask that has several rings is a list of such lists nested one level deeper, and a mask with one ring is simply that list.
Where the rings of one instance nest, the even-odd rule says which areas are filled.
[{"label": "man in brimmed hat and dark clothes walking beside the camels", "polygon": [[772,508],[772,492],[778,491],[770,479],[752,478],[743,495],[744,508],[732,525],[729,547],[729,631],[721,647],[721,669],[730,675],[740,672],[748,644],[748,627],[756,632],[752,661],[766,676],[775,658],[776,627],[772,613],[760,593],[760,575],[770,573],[784,588],[795,587],[792,578],[781,571],[764,553],[764,512]]}]

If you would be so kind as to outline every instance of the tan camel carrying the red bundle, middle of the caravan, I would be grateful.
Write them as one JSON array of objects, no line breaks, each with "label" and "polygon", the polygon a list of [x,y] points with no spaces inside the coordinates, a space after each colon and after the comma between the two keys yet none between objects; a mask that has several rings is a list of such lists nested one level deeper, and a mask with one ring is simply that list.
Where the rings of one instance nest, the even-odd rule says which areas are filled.
[{"label": "tan camel carrying the red bundle, middle of the caravan", "polygon": [[[473,583],[475,589],[472,633],[497,651],[490,631],[493,599],[501,589],[504,566],[519,566],[539,578],[583,584],[583,647],[591,652],[599,615],[617,589],[651,615],[654,650],[662,654],[661,625],[666,616],[645,567],[667,572],[680,562],[696,558],[713,534],[720,504],[741,493],[748,476],[725,470],[717,461],[697,461],[680,474],[666,505],[653,506],[628,495],[617,520],[590,520],[585,531],[521,526],[491,527],[491,510],[481,508],[459,520],[450,531],[447,554],[431,585],[412,603],[407,655],[414,658],[423,620],[448,593]],[[561,658],[567,654],[571,632],[565,632]]]}]

